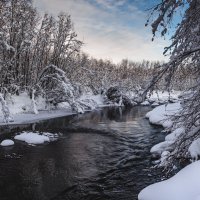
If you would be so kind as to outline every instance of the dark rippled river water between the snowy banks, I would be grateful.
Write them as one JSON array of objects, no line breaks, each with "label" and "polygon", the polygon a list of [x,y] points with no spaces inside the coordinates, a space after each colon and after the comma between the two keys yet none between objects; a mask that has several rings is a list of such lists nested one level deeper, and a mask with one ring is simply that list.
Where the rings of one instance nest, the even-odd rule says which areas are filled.
[{"label": "dark rippled river water between the snowy banks", "polygon": [[144,118],[148,107],[104,108],[18,127],[1,127],[0,140],[23,130],[60,133],[57,141],[0,147],[0,200],[137,200],[160,180],[150,148],[164,139]]}]

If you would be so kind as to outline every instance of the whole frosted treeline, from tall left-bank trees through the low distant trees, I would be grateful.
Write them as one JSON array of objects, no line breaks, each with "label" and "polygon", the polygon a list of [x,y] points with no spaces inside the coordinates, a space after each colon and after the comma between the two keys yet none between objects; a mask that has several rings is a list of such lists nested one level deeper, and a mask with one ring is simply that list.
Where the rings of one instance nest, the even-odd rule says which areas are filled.
[{"label": "whole frosted treeline, from tall left-bank trees through the low distant trees", "polygon": [[[1,0],[0,93],[5,97],[26,90],[31,98],[41,94],[48,102],[58,103],[74,99],[81,87],[95,94],[110,86],[138,91],[162,66],[160,62],[97,60],[82,53],[82,45],[69,15],[41,17],[29,0]],[[183,88],[183,82],[187,87],[192,73],[178,70],[174,80],[175,89]],[[164,81],[156,87],[163,89]]]}]

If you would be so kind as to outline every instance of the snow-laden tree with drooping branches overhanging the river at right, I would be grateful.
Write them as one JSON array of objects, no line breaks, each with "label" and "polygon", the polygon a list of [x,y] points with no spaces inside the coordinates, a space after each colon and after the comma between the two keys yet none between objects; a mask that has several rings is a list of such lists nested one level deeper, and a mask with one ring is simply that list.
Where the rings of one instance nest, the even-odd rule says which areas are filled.
[{"label": "snow-laden tree with drooping branches overhanging the river at right", "polygon": [[[175,72],[181,67],[194,72],[195,79],[190,95],[184,99],[183,110],[174,118],[174,127],[184,126],[185,134],[178,137],[168,157],[167,165],[175,160],[181,161],[188,156],[190,144],[200,138],[200,1],[199,0],[164,0],[153,9],[157,16],[151,24],[152,33],[161,31],[164,36],[170,28],[170,22],[178,11],[184,11],[181,22],[177,25],[172,43],[164,53],[170,54],[170,61],[160,68],[157,75],[148,85],[151,88],[164,74],[170,83]],[[148,23],[150,21],[148,20]]]}]

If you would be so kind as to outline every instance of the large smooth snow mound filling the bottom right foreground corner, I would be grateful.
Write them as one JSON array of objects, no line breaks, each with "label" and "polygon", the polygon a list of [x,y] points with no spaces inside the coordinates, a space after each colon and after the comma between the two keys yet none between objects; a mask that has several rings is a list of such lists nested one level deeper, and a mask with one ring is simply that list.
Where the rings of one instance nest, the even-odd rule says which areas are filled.
[{"label": "large smooth snow mound filling the bottom right foreground corner", "polygon": [[172,178],[143,189],[139,200],[199,200],[200,161],[194,162]]}]

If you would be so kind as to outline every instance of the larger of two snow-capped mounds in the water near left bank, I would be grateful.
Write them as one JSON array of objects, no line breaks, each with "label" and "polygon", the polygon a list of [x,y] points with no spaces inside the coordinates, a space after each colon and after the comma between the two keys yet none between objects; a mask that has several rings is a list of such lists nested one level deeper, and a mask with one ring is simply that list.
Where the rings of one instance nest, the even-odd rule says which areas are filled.
[{"label": "larger of two snow-capped mounds in the water near left bank", "polygon": [[24,141],[28,144],[43,144],[45,142],[50,142],[52,138],[58,137],[57,134],[52,133],[38,133],[38,132],[23,132],[14,137],[15,140]]}]

